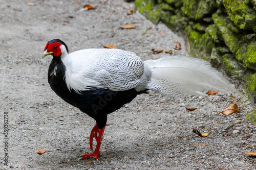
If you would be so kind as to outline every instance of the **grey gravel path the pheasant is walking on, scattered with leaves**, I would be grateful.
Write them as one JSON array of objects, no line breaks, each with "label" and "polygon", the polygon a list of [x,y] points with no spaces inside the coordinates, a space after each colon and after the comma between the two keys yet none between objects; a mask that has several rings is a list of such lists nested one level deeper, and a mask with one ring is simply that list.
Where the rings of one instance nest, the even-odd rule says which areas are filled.
[{"label": "grey gravel path the pheasant is walking on, scattered with leaves", "polygon": [[[87,4],[97,9],[84,10]],[[183,38],[139,13],[127,16],[134,4],[121,0],[0,0],[0,8],[0,122],[8,115],[9,128],[4,134],[1,126],[0,169],[256,169],[255,157],[244,156],[256,151],[256,127],[245,120],[252,105],[226,94],[175,99],[155,92],[139,95],[109,115],[99,160],[78,160],[91,152],[95,121],[51,90],[51,57],[41,57],[47,41],[59,38],[70,52],[114,44],[147,60],[169,55],[154,55],[151,49],[173,50],[175,41],[181,42],[181,50],[172,55],[187,55]],[[136,29],[119,29],[128,24]],[[152,29],[142,35],[148,27]],[[232,103],[242,111],[220,113]],[[194,128],[209,130],[208,137],[198,137]],[[39,155],[39,148],[48,151]]]}]

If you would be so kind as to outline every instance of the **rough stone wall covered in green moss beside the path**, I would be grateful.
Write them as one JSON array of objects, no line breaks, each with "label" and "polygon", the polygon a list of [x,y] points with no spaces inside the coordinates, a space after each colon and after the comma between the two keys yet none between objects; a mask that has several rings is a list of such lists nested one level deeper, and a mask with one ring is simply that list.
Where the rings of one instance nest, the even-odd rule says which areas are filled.
[{"label": "rough stone wall covered in green moss beside the path", "polygon": [[135,0],[135,6],[153,23],[182,34],[191,56],[224,69],[256,102],[254,0]]}]

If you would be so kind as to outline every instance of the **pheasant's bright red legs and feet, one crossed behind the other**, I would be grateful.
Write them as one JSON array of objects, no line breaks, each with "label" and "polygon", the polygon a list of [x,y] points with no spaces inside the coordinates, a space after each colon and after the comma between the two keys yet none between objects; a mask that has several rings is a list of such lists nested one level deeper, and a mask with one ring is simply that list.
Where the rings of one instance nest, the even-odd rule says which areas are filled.
[{"label": "pheasant's bright red legs and feet, one crossed behind the other", "polygon": [[97,124],[93,127],[93,129],[91,131],[91,135],[90,135],[90,148],[91,148],[91,150],[93,149],[92,143],[93,143],[93,137],[95,137],[95,139],[97,141],[96,149],[95,149],[94,153],[92,153],[92,154],[81,155],[82,158],[80,158],[80,159],[95,158],[96,160],[98,160],[99,148],[100,148],[104,130],[105,130],[105,127],[102,129],[99,129]]}]

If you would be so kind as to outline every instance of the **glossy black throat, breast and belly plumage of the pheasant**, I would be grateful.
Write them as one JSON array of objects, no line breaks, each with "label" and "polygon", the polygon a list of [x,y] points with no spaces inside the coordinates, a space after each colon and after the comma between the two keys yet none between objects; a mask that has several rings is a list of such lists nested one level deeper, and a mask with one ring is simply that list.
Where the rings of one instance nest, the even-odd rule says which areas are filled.
[{"label": "glossy black throat, breast and belly plumage of the pheasant", "polygon": [[[55,69],[55,67],[57,68]],[[54,70],[55,69],[55,70]],[[67,103],[79,108],[96,120],[99,129],[106,125],[107,115],[118,110],[126,103],[131,102],[137,94],[134,88],[125,91],[113,91],[105,88],[92,87],[90,90],[69,90],[64,79],[66,67],[59,57],[53,57],[48,70],[48,82],[52,90]],[[55,71],[55,74],[53,74]]]}]

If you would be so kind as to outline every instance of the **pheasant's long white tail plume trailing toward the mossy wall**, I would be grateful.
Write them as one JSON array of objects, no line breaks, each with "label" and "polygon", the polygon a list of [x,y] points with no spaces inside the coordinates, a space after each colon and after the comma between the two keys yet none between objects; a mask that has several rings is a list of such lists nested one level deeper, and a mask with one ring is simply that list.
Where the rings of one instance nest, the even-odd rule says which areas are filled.
[{"label": "pheasant's long white tail plume trailing toward the mossy wall", "polygon": [[171,96],[205,95],[208,90],[242,95],[205,60],[173,56],[147,60],[144,64],[152,70],[148,89],[158,90]]}]

